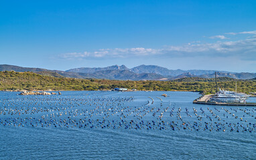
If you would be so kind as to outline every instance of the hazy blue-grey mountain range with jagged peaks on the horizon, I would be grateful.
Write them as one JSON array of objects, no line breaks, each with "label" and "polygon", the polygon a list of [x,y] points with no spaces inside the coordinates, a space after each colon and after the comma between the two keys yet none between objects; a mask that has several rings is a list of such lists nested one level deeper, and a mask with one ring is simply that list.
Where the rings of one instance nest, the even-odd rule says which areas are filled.
[{"label": "hazy blue-grey mountain range with jagged peaks on the horizon", "polygon": [[117,80],[160,80],[168,81],[184,77],[213,78],[215,72],[217,77],[230,77],[233,79],[255,79],[256,73],[234,73],[229,71],[215,70],[181,70],[167,69],[157,65],[139,65],[131,69],[125,65],[112,65],[109,67],[81,67],[68,69],[67,71],[48,70],[41,68],[19,67],[15,65],[0,65],[0,71],[31,71],[40,75],[52,77],[73,77],[79,79],[117,79]]}]

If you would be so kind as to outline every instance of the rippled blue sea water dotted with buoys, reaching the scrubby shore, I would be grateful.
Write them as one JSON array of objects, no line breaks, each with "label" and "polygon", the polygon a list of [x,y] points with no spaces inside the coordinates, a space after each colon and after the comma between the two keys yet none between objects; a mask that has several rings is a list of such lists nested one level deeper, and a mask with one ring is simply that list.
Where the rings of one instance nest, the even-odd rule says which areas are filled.
[{"label": "rippled blue sea water dotted with buoys, reaching the scrubby shore", "polygon": [[256,107],[192,104],[199,96],[0,92],[0,159],[256,159]]}]

